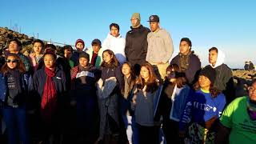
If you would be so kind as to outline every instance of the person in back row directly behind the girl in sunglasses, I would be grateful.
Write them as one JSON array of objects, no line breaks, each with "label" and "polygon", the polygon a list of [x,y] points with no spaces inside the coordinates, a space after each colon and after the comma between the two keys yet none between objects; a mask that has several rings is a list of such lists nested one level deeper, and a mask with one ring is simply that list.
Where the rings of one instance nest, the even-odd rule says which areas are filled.
[{"label": "person in back row directly behind the girl in sunglasses", "polygon": [[22,42],[20,42],[16,38],[10,40],[9,47],[8,47],[9,53],[18,54],[18,56],[22,59],[22,62],[26,68],[26,72],[30,72],[31,71],[30,59],[20,52],[21,49],[22,49]]}]

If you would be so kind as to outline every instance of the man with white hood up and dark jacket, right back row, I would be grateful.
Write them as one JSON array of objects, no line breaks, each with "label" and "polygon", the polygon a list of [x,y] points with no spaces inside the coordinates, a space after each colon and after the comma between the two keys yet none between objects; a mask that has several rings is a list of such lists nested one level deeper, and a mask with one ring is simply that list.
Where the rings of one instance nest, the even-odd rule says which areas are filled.
[{"label": "man with white hood up and dark jacket, right back row", "polygon": [[229,66],[224,64],[225,54],[216,47],[212,47],[209,50],[209,63],[216,71],[216,80],[214,86],[218,90],[222,90],[226,96],[226,103],[230,103],[234,100],[234,81],[233,74]]}]

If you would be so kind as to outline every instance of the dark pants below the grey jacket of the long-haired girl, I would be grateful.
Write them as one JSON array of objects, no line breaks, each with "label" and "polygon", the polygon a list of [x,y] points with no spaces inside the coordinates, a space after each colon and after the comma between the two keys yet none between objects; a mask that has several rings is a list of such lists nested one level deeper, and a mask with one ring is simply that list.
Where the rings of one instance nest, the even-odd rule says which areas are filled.
[{"label": "dark pants below the grey jacket of the long-haired girl", "polygon": [[159,127],[158,126],[141,126],[138,123],[138,142],[139,144],[158,144]]}]

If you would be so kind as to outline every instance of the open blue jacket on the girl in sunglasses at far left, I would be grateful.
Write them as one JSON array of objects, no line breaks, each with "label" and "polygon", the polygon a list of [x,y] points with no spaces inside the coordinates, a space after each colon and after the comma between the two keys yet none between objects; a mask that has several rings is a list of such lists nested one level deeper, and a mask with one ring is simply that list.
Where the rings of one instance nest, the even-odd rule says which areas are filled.
[{"label": "open blue jacket on the girl in sunglasses at far left", "polygon": [[[28,95],[28,89],[30,86],[30,82],[31,82],[30,75],[22,74],[22,89],[25,92],[25,94],[22,94],[23,96]],[[7,86],[6,76],[4,76],[2,73],[0,73],[0,100],[1,100],[1,102],[6,101],[7,90],[8,90],[8,86]],[[23,101],[25,98],[20,98],[20,99]]]}]

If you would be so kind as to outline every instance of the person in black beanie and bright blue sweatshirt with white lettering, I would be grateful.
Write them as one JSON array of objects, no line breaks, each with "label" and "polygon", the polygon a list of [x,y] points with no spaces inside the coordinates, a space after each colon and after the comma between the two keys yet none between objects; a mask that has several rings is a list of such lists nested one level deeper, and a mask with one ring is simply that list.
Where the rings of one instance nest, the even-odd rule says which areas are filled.
[{"label": "person in black beanie and bright blue sweatshirt with white lettering", "polygon": [[184,138],[186,130],[189,130],[191,143],[214,143],[216,124],[226,105],[225,95],[214,87],[215,79],[214,68],[204,67],[194,85],[196,91],[186,100],[179,122],[179,135]]}]

